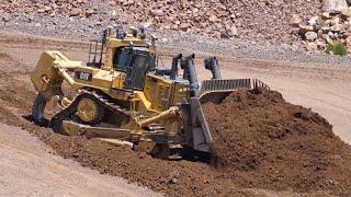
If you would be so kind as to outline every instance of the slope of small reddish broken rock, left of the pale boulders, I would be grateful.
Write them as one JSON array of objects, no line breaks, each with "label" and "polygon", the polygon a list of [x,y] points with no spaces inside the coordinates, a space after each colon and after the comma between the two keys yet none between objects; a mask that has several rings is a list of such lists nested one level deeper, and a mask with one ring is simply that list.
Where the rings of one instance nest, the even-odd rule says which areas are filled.
[{"label": "slope of small reddish broken rock, left of the pale boulders", "polygon": [[297,32],[293,33],[295,28],[290,25],[293,14],[307,21],[320,13],[320,1],[305,0],[0,0],[0,8],[4,11],[2,20],[5,22],[25,13],[41,18],[93,19],[102,23],[111,20],[122,23],[148,22],[159,28],[197,32],[215,37],[283,40],[297,36]]}]

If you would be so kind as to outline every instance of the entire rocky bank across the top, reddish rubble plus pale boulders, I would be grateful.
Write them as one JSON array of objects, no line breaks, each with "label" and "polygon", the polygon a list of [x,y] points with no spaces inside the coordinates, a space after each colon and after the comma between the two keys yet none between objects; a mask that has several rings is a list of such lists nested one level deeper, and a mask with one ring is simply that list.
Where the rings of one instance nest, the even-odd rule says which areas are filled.
[{"label": "entire rocky bank across the top, reddish rubble plus pale boulders", "polygon": [[[275,40],[325,50],[351,48],[351,0],[0,0],[0,22],[86,34],[110,24],[145,24],[158,30],[217,38]],[[49,19],[49,24],[43,19]],[[56,20],[56,21],[55,21]],[[75,21],[80,21],[77,25]],[[56,30],[60,31],[60,30]]]}]

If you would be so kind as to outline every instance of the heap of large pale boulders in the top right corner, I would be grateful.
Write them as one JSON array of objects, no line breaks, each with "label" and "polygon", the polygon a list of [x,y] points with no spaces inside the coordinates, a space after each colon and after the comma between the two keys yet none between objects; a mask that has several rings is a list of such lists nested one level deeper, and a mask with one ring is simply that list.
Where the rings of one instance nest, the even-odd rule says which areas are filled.
[{"label": "heap of large pale boulders in the top right corner", "polygon": [[328,45],[338,43],[351,49],[350,3],[347,0],[324,0],[322,12],[308,21],[293,15],[291,24],[299,27],[299,36],[308,50],[325,50]]}]

